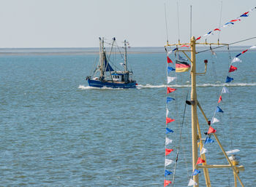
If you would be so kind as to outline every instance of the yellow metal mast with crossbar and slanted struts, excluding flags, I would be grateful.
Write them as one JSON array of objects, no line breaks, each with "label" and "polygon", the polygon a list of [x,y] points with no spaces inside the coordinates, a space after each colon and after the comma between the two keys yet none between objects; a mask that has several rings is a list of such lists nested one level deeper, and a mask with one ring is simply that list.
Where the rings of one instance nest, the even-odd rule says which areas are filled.
[{"label": "yellow metal mast with crossbar and slanted struts, excluding flags", "polygon": [[[203,140],[202,140],[202,135],[200,132],[200,125],[198,122],[198,116],[197,116],[197,107],[200,109],[201,113],[203,114],[204,118],[206,119],[206,124],[208,124],[209,126],[211,126],[211,121],[208,121],[208,118],[206,117],[206,114],[203,112],[203,108],[200,106],[200,103],[197,100],[197,89],[196,89],[196,76],[197,75],[202,75],[206,73],[206,70],[204,73],[197,73],[196,71],[196,57],[195,55],[197,54],[196,52],[196,45],[197,44],[203,44],[203,45],[223,45],[223,46],[228,46],[229,44],[220,44],[219,41],[217,44],[215,43],[208,43],[207,41],[204,43],[196,43],[195,40],[195,36],[192,36],[190,43],[187,44],[181,44],[178,41],[178,44],[169,44],[167,41],[167,44],[165,45],[165,49],[166,47],[171,47],[171,46],[176,46],[176,48],[178,49],[179,46],[181,45],[190,45],[190,49],[178,49],[179,52],[183,52],[184,55],[187,56],[187,58],[189,59],[189,61],[191,62],[191,71],[190,71],[190,75],[191,75],[191,100],[187,100],[186,103],[191,105],[191,121],[192,121],[192,170],[194,171],[197,168],[203,168],[203,173],[204,173],[204,177],[206,180],[206,186],[207,187],[211,187],[211,181],[210,181],[210,177],[208,174],[208,169],[209,168],[231,168],[233,170],[233,175],[234,175],[234,184],[235,187],[237,186],[237,180],[239,181],[239,183],[241,184],[241,186],[244,187],[244,184],[242,183],[241,179],[238,176],[238,172],[244,170],[244,166],[239,166],[238,167],[238,161],[236,159],[231,159],[227,156],[224,148],[222,147],[222,144],[219,142],[219,139],[217,137],[217,135],[215,133],[213,133],[214,138],[217,140],[217,143],[219,145],[219,147],[222,150],[222,153],[224,154],[225,158],[227,159],[227,162],[229,164],[226,165],[217,165],[217,164],[207,164],[206,163],[206,155],[205,154],[201,154],[201,159],[203,159],[205,162],[202,163],[202,165],[197,165],[197,159],[198,159],[198,148],[200,148],[200,151],[203,148]],[[191,57],[188,57],[188,55],[186,54],[186,52],[191,52]],[[206,69],[207,69],[207,62],[205,62],[206,65]],[[199,142],[199,143],[198,143]],[[198,143],[198,144],[197,144]],[[198,175],[193,175],[193,180],[195,181],[194,187],[198,187]]]}]

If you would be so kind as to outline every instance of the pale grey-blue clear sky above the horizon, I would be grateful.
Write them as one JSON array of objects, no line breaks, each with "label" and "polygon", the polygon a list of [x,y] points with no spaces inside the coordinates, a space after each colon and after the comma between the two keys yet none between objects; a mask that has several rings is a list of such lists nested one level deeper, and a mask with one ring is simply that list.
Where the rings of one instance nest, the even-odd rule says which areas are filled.
[{"label": "pale grey-blue clear sky above the horizon", "polygon": [[[188,42],[190,5],[192,36],[197,37],[218,28],[219,20],[224,25],[256,7],[256,1],[0,0],[0,47],[99,47],[99,36],[108,41],[127,39],[131,47],[163,47],[167,36],[170,43],[177,42],[178,36]],[[255,20],[256,9],[240,23],[224,28],[220,41],[255,37]],[[208,41],[217,42],[217,35]],[[256,39],[238,45],[254,44]]]}]

